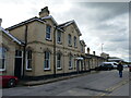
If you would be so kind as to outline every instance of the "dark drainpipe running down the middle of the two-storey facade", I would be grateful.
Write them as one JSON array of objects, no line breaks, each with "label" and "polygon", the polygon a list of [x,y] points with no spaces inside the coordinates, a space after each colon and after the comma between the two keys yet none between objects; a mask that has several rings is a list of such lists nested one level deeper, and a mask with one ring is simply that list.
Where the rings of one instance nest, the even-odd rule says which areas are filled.
[{"label": "dark drainpipe running down the middle of the two-storey facade", "polygon": [[56,29],[57,26],[55,26],[53,30],[53,76],[56,77]]}]

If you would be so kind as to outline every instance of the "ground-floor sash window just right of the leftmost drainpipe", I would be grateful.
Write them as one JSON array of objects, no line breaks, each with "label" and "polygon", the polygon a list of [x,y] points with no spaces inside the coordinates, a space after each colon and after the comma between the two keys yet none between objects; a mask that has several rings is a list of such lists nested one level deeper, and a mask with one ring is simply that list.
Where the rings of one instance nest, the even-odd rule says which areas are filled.
[{"label": "ground-floor sash window just right of the leftmost drainpipe", "polygon": [[32,70],[32,50],[26,51],[26,70]]}]

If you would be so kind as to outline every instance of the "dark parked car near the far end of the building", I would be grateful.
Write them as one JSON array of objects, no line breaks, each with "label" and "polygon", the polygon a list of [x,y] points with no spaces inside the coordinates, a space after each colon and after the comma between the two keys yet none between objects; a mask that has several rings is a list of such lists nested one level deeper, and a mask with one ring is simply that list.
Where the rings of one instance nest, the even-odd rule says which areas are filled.
[{"label": "dark parked car near the far end of the building", "polygon": [[114,70],[117,69],[117,62],[103,62],[96,70]]}]

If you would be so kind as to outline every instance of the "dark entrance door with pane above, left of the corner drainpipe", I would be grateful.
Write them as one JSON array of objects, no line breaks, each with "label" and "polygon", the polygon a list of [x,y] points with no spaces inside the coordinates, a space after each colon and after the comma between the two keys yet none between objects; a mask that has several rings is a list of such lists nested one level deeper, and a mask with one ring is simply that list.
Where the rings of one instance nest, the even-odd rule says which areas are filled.
[{"label": "dark entrance door with pane above, left of the corner drainpipe", "polygon": [[15,68],[14,68],[14,76],[21,78],[22,75],[22,51],[15,51]]}]

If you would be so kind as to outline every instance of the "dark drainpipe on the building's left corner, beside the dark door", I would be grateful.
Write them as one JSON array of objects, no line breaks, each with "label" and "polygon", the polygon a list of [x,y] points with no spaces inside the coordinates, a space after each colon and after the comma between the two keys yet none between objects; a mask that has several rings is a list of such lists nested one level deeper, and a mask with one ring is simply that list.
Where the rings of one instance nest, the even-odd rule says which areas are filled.
[{"label": "dark drainpipe on the building's left corner, beside the dark door", "polygon": [[24,44],[24,52],[23,52],[23,77],[25,76],[25,61],[26,61],[26,46],[27,46],[27,29],[28,29],[28,26],[25,25],[25,44]]}]

